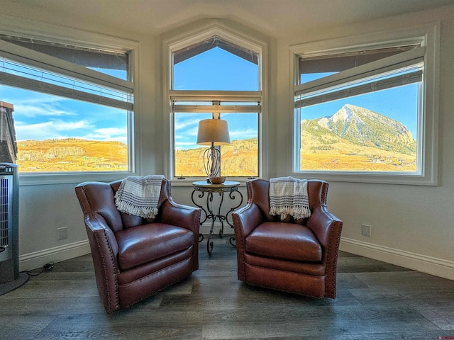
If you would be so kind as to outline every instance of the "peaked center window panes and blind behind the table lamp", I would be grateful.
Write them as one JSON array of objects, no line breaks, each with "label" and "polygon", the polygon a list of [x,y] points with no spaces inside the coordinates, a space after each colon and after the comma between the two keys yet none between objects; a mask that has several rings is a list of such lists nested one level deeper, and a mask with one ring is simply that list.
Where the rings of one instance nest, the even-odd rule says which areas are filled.
[{"label": "peaked center window panes and blind behind the table lamp", "polygon": [[173,176],[206,176],[199,121],[227,120],[221,176],[259,176],[260,51],[218,35],[172,50]]}]

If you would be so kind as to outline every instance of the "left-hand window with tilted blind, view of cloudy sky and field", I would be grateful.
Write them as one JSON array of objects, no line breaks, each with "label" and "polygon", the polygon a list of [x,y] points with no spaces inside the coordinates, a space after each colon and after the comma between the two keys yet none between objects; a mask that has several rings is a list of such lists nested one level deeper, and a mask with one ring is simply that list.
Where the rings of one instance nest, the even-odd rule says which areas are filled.
[{"label": "left-hand window with tilted blind, view of cloudy sky and field", "polygon": [[0,36],[21,173],[129,171],[128,52]]}]

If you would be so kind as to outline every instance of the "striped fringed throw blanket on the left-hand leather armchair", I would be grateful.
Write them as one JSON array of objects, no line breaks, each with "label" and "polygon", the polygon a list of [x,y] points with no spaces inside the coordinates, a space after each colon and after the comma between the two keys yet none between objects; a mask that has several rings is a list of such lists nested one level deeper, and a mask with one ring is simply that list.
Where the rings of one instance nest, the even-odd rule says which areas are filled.
[{"label": "striped fringed throw blanket on the left-hand leather armchair", "polygon": [[129,176],[115,194],[116,208],[129,215],[155,218],[164,176]]}]

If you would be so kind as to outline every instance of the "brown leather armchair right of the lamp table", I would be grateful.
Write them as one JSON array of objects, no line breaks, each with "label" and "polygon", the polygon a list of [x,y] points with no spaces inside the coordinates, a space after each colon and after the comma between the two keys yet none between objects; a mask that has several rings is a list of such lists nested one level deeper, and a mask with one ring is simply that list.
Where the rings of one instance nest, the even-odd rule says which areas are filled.
[{"label": "brown leather armchair right of the lamp table", "polygon": [[343,222],[326,208],[328,183],[309,180],[311,217],[270,215],[270,182],[246,183],[248,202],[233,212],[238,279],[250,285],[311,297],[336,297]]}]

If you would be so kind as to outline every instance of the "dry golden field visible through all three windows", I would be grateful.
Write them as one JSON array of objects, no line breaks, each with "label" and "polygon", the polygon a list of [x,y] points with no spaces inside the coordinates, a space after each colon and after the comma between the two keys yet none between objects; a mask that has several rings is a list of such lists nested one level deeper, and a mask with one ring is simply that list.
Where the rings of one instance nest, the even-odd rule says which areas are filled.
[{"label": "dry golden field visible through all three windows", "polygon": [[[21,172],[127,171],[128,146],[122,142],[97,140],[26,140],[17,143]],[[177,150],[175,176],[206,176],[205,148]],[[416,171],[416,157],[384,152],[375,147],[358,147],[344,140],[323,149],[304,139],[301,170],[331,171]],[[222,147],[222,176],[258,176],[258,141],[234,140]]]}]

